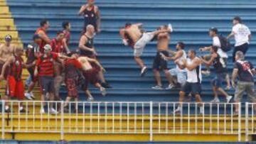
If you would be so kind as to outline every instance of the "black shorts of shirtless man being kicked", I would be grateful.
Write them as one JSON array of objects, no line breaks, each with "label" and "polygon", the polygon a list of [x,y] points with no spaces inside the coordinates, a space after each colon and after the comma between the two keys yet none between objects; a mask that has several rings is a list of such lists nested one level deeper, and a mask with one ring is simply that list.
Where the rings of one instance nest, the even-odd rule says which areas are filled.
[{"label": "black shorts of shirtless man being kicked", "polygon": [[169,57],[169,52],[166,50],[157,52],[153,62],[153,70],[168,70],[167,61],[161,57],[161,53]]}]

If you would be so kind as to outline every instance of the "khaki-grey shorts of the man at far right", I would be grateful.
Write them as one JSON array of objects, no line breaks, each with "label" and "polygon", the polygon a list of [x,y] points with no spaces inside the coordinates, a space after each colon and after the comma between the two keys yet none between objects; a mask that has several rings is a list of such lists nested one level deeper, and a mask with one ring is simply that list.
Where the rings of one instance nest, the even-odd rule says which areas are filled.
[{"label": "khaki-grey shorts of the man at far right", "polygon": [[238,82],[238,85],[235,89],[235,101],[241,101],[242,95],[246,93],[250,101],[255,103],[256,95],[254,86],[254,82]]}]

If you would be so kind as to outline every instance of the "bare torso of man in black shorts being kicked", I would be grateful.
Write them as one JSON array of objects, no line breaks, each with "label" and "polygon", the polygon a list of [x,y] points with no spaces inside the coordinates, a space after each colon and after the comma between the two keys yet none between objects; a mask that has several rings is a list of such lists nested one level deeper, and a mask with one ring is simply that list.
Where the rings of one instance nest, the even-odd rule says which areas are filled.
[{"label": "bare torso of man in black shorts being kicked", "polygon": [[160,33],[157,36],[157,50],[164,51],[169,49],[170,36],[169,33]]}]

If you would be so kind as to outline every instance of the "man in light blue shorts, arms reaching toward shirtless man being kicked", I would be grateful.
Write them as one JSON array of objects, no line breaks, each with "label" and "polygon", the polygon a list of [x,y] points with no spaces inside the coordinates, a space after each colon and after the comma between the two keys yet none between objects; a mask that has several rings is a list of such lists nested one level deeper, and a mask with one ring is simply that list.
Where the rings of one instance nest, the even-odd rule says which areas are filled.
[{"label": "man in light blue shorts, arms reaching toward shirtless man being kicked", "polygon": [[[176,52],[169,50],[171,55],[173,55],[172,57],[166,57],[166,55],[161,55],[161,57],[164,60],[174,60],[174,62],[177,60],[178,62],[181,62],[183,59],[186,60],[187,56],[184,48],[185,44],[183,42],[178,42],[176,44]],[[168,89],[173,89],[174,87],[177,87],[178,84],[182,87],[186,83],[186,70],[182,70],[178,65],[176,65],[176,68],[169,70],[169,73],[171,73],[171,82]]]}]

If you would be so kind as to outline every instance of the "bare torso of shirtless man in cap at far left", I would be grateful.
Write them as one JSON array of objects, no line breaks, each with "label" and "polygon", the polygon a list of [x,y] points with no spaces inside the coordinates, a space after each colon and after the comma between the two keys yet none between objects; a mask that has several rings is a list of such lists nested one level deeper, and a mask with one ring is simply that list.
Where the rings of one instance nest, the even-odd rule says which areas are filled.
[{"label": "bare torso of shirtless man in cap at far left", "polygon": [[12,55],[14,55],[14,49],[15,49],[16,45],[0,45],[0,63],[4,63],[2,60],[6,61],[9,59],[9,57],[11,57]]}]

